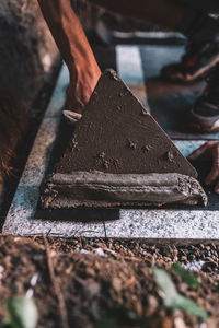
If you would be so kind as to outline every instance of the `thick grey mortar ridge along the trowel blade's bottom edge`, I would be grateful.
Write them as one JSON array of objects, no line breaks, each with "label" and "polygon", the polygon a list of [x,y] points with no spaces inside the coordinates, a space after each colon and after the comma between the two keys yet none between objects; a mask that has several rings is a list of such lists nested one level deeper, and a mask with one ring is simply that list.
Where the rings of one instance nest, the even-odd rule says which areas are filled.
[{"label": "thick grey mortar ridge along the trowel blade's bottom edge", "polygon": [[199,183],[181,174],[55,174],[43,188],[43,208],[207,204]]}]

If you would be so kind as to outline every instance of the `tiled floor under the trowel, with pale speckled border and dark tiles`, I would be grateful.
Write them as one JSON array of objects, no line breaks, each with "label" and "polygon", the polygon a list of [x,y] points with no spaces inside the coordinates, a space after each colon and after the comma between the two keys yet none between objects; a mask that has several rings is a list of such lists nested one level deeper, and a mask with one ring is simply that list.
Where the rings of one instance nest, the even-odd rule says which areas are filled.
[{"label": "tiled floor under the trowel, with pale speckled border and dark tiles", "polygon": [[[107,65],[117,69],[120,78],[143,104],[147,104],[147,81],[151,114],[174,139],[184,155],[188,155],[206,140],[218,139],[218,134],[188,134],[186,130],[185,114],[205,83],[182,86],[166,83],[159,78],[161,67],[173,59],[177,60],[183,54],[183,46],[118,45],[115,48],[96,47],[94,50],[99,61],[105,58],[104,61],[100,61],[101,67],[105,68]],[[36,210],[39,185],[56,140],[67,85],[68,71],[64,66],[9,210],[3,232],[25,236],[50,234],[161,241],[218,239],[219,207],[218,197],[214,194],[209,194],[209,206],[205,209],[85,209],[49,213]]]}]

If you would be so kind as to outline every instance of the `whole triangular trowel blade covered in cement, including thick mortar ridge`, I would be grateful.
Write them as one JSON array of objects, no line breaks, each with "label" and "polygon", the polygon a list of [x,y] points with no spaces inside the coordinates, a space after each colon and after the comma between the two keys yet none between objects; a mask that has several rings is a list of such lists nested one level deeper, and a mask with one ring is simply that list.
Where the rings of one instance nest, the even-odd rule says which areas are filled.
[{"label": "whole triangular trowel blade covered in cement, including thick mortar ridge", "polygon": [[[183,190],[180,175],[186,177],[180,184]],[[195,168],[116,72],[106,70],[74,124],[67,151],[43,186],[42,206],[197,204],[199,198],[206,204],[199,184],[189,180],[196,177]]]}]

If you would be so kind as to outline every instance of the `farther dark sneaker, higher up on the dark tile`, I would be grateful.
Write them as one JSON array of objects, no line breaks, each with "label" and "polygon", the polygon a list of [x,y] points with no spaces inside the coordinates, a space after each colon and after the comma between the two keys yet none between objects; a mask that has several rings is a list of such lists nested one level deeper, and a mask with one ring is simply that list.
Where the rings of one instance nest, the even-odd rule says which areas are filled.
[{"label": "farther dark sneaker, higher up on the dark tile", "polygon": [[219,43],[189,43],[177,63],[165,66],[161,75],[171,82],[193,83],[204,79],[219,62]]}]

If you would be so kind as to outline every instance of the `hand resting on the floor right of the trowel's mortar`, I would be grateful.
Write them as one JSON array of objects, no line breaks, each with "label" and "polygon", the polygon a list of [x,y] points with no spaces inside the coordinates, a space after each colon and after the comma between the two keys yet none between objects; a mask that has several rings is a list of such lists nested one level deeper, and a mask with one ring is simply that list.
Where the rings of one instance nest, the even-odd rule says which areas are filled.
[{"label": "hand resting on the floor right of the trowel's mortar", "polygon": [[195,150],[189,156],[188,160],[198,160],[203,155],[209,155],[212,160],[212,166],[210,173],[205,179],[206,185],[215,185],[215,192],[219,194],[219,141],[208,141],[203,144],[200,148]]}]

